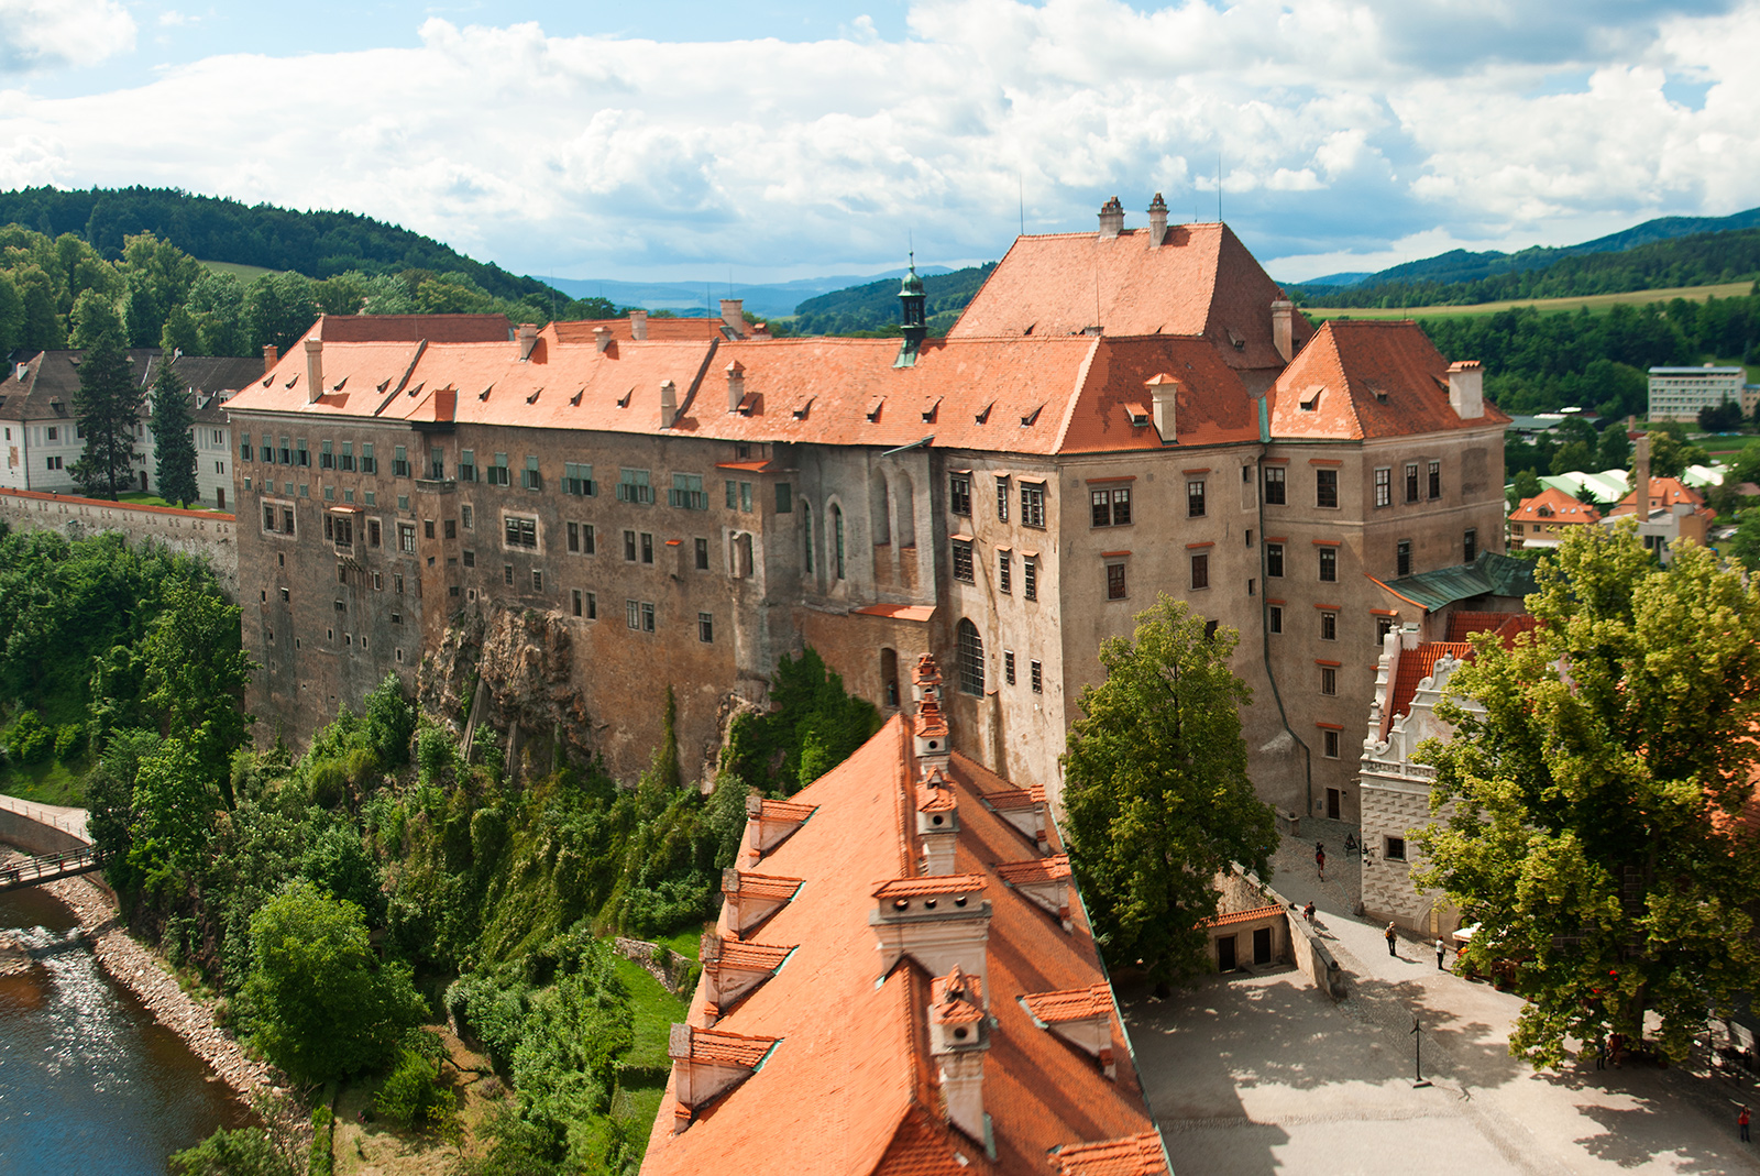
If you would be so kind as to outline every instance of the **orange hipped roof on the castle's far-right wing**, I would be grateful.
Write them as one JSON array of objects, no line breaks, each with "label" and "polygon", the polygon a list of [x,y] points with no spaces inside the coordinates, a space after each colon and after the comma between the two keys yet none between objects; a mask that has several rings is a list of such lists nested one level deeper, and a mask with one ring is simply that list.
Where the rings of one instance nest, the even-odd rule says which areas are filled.
[{"label": "orange hipped roof on the castle's far-right wing", "polygon": [[1412,320],[1322,322],[1278,377],[1271,407],[1272,437],[1290,438],[1412,437],[1508,421],[1489,400],[1477,421],[1456,414],[1448,361]]}]

